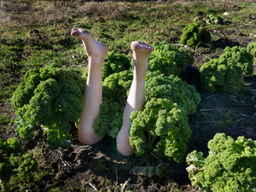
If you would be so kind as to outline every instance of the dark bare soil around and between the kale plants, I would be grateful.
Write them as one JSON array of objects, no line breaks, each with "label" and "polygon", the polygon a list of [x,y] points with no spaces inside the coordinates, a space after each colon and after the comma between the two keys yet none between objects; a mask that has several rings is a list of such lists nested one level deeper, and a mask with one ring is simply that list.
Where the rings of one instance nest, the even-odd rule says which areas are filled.
[{"label": "dark bare soil around and between the kale plants", "polygon": [[[240,27],[240,26],[237,26]],[[237,34],[236,31],[228,31],[229,38],[223,38],[220,31],[212,31],[219,38],[212,42],[212,47],[218,52],[195,54],[195,62],[202,64],[205,58],[218,58],[226,46],[240,45],[246,48],[247,44],[255,41],[247,34]],[[255,66],[254,66],[255,67]],[[255,71],[255,69],[254,69]],[[197,150],[207,154],[207,143],[217,132],[224,132],[234,137],[244,136],[256,140],[256,76],[244,79],[241,92],[228,95],[223,92],[210,94],[201,93],[201,103],[197,112],[189,116],[189,125],[193,131],[188,144],[188,153]],[[1,91],[1,90],[0,90]],[[256,91],[254,91],[254,94]],[[15,118],[15,112],[10,103],[0,104],[0,113],[9,114]],[[17,137],[15,125],[3,125],[1,135],[5,139]],[[199,191],[190,186],[185,163],[175,163],[172,160],[161,159],[162,176],[142,176],[131,174],[134,166],[155,166],[159,160],[153,156],[124,157],[117,152],[115,141],[106,137],[101,143],[89,146],[79,143],[77,130],[73,128],[73,144],[70,148],[55,151],[47,150],[44,139],[38,137],[38,143],[23,141],[23,148],[33,154],[38,154],[39,166],[45,166],[44,172],[51,172],[37,183],[39,191],[120,191],[121,184],[125,190],[131,191]],[[49,167],[50,165],[50,167]],[[129,179],[129,180],[128,180]],[[29,189],[29,187],[27,187]],[[13,191],[20,191],[17,186]]]}]

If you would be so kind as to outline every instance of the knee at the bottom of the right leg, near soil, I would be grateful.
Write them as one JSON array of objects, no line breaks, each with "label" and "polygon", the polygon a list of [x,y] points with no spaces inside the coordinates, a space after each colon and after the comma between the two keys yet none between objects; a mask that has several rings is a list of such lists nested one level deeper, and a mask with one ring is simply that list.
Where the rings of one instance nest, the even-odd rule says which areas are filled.
[{"label": "knee at the bottom of the right leg, near soil", "polygon": [[121,135],[118,135],[116,138],[116,143],[120,154],[123,154],[124,156],[131,156],[131,154],[134,154],[134,150],[131,148],[129,143],[129,137],[125,138]]}]

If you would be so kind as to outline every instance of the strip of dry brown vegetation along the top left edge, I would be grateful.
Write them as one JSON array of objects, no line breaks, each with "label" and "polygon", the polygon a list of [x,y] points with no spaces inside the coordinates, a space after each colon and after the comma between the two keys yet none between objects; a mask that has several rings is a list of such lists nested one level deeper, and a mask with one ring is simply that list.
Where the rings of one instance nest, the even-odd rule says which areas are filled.
[{"label": "strip of dry brown vegetation along the top left edge", "polygon": [[0,25],[32,26],[38,23],[59,23],[72,20],[73,15],[101,15],[104,20],[118,20],[124,17],[125,10],[128,9],[123,4],[118,0],[82,4],[79,0],[42,0],[34,3],[26,3],[26,0],[19,3],[0,1]]}]

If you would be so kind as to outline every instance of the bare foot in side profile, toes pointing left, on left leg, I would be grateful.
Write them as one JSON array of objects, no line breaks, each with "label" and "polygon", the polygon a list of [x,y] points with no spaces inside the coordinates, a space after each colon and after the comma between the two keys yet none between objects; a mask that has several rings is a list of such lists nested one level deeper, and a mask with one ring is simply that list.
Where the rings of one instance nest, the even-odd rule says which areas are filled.
[{"label": "bare foot in side profile, toes pointing left, on left leg", "polygon": [[105,56],[108,54],[108,46],[106,44],[102,44],[91,38],[90,32],[84,29],[73,28],[71,35],[83,41],[88,58],[93,57],[99,59],[100,63],[104,61]]}]

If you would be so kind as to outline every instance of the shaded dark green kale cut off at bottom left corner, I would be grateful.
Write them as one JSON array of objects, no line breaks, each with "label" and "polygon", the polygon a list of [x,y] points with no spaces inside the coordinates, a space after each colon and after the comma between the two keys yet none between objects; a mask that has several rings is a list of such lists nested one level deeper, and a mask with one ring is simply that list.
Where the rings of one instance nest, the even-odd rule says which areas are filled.
[{"label": "shaded dark green kale cut off at bottom left corner", "polygon": [[7,182],[13,172],[25,176],[38,169],[38,162],[31,154],[25,154],[22,143],[17,138],[4,140],[0,135],[0,185],[7,189]]}]

